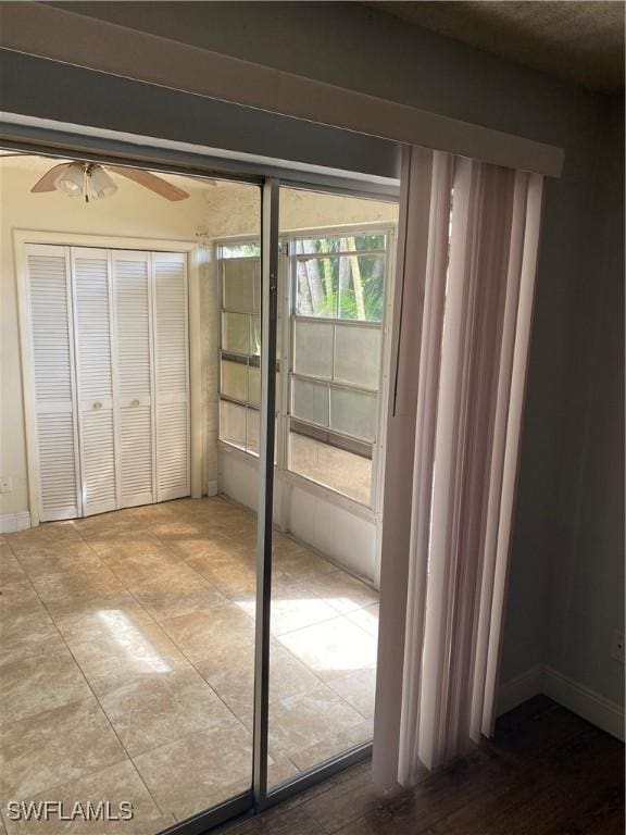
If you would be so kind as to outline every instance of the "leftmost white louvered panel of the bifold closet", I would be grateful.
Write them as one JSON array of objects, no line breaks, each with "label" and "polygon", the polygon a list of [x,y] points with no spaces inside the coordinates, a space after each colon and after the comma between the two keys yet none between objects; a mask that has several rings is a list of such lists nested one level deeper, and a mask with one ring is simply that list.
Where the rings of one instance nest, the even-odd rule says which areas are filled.
[{"label": "leftmost white louvered panel of the bifold closet", "polygon": [[39,510],[51,522],[82,512],[68,248],[27,245],[26,272]]}]

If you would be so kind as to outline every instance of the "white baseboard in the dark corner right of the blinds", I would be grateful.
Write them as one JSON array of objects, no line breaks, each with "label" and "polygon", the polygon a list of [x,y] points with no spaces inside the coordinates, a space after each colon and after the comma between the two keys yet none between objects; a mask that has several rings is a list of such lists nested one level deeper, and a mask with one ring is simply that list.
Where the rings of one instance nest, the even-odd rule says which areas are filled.
[{"label": "white baseboard in the dark corner right of the blinds", "polygon": [[547,664],[536,664],[500,685],[498,715],[501,716],[539,694],[549,696],[567,710],[624,741],[624,708]]}]

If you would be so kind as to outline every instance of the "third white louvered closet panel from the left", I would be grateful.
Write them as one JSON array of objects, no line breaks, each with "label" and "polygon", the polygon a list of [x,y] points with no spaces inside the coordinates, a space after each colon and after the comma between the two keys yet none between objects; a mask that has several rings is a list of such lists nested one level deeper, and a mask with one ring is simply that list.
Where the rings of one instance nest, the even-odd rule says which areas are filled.
[{"label": "third white louvered closet panel from the left", "polygon": [[112,250],[118,507],[155,500],[150,253]]}]

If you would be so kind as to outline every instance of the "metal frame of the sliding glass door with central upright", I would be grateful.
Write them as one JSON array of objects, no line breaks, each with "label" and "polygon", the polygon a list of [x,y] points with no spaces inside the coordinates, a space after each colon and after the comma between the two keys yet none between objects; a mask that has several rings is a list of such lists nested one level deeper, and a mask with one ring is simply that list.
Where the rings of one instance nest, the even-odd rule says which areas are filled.
[{"label": "metal frame of the sliding glass door with central upright", "polygon": [[[275,457],[275,406],[276,406],[276,335],[278,325],[278,207],[280,185],[305,190],[350,195],[371,199],[396,201],[398,189],[367,178],[340,179],[328,175],[312,175],[310,180],[299,179],[293,172],[286,171],[280,179],[274,172],[266,170],[265,175],[243,173],[237,176],[231,171],[220,169],[220,160],[203,160],[200,155],[180,153],[176,155],[161,149],[146,147],[132,148],[112,145],[101,137],[89,137],[90,141],[79,140],[76,136],[63,135],[47,129],[23,128],[21,136],[0,139],[0,148],[24,153],[48,155],[64,160],[90,160],[95,162],[114,162],[132,167],[158,170],[163,173],[179,174],[206,178],[216,176],[223,179],[247,182],[262,190],[261,201],[261,403],[260,403],[260,450],[258,482],[258,526],[256,526],[256,621],[254,653],[254,710],[253,710],[253,751],[252,783],[249,790],[229,800],[200,812],[192,818],[176,823],[161,835],[202,835],[209,833],[234,818],[245,815],[273,806],[298,792],[312,786],[328,776],[367,759],[372,743],[365,743],[338,755],[320,765],[297,775],[289,781],[267,787],[268,752],[268,689],[270,689],[270,616],[272,584],[272,541],[273,541],[273,503],[274,503],[274,457]],[[83,141],[83,145],[80,145]],[[148,141],[148,140],[147,140]],[[272,176],[267,176],[271,173]]]}]

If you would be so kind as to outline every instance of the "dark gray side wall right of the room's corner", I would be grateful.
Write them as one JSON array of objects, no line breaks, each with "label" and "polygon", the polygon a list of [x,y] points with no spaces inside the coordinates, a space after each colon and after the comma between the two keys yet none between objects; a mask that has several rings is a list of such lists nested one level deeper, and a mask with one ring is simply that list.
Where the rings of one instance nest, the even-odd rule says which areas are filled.
[{"label": "dark gray side wall right of the room's corner", "polygon": [[[566,411],[549,563],[547,663],[614,701],[624,622],[624,100],[598,126],[583,269],[568,298]],[[621,626],[623,630],[623,625]]]}]

